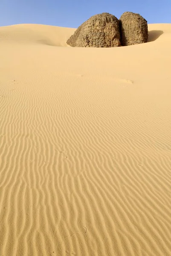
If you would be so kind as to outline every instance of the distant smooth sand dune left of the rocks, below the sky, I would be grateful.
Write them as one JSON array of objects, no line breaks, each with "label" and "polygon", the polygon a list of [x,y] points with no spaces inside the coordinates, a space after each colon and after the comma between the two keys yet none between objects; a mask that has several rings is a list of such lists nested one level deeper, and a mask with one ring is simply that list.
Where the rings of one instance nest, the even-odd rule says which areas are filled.
[{"label": "distant smooth sand dune left of the rocks, below the sky", "polygon": [[19,24],[0,27],[0,43],[44,44],[67,46],[75,29],[38,24]]}]

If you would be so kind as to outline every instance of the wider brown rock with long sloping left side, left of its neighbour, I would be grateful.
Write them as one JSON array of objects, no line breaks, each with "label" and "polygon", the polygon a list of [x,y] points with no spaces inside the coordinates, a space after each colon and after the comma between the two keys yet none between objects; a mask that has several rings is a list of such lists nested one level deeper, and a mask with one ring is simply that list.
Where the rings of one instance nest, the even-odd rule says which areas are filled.
[{"label": "wider brown rock with long sloping left side, left of its neighbour", "polygon": [[118,47],[120,42],[119,20],[101,13],[90,17],[68,39],[72,47]]}]

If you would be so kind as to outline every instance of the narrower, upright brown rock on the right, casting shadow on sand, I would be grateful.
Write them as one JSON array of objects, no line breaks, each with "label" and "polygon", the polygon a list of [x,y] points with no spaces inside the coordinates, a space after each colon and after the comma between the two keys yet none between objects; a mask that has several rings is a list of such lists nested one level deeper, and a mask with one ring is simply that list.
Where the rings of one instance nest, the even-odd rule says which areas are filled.
[{"label": "narrower, upright brown rock on the right, casting shadow on sand", "polygon": [[119,19],[122,46],[142,44],[148,40],[148,24],[138,13],[124,12]]}]

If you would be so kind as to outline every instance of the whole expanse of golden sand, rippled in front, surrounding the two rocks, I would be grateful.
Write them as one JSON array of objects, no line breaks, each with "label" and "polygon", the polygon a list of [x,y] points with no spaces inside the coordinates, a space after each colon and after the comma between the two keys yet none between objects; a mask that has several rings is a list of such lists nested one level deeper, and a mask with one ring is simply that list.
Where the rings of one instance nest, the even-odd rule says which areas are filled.
[{"label": "whole expanse of golden sand, rippled in front, surrounding the two rocks", "polygon": [[0,256],[171,255],[171,24],[149,30],[0,27]]}]

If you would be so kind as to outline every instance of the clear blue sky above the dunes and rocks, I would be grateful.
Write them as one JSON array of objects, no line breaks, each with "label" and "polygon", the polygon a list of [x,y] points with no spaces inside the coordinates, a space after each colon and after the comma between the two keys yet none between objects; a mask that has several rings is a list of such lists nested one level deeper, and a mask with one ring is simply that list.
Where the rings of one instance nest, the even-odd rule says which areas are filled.
[{"label": "clear blue sky above the dunes and rocks", "polygon": [[136,12],[148,23],[171,23],[171,0],[0,0],[0,26],[38,23],[77,28],[91,16],[109,12],[119,18]]}]

